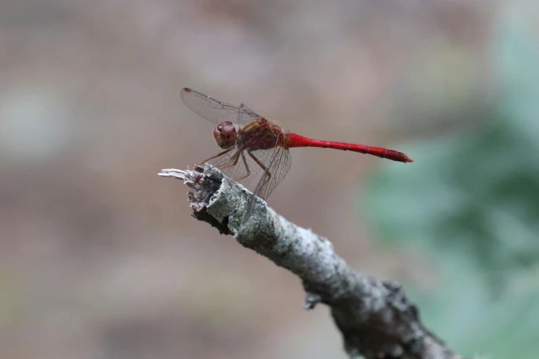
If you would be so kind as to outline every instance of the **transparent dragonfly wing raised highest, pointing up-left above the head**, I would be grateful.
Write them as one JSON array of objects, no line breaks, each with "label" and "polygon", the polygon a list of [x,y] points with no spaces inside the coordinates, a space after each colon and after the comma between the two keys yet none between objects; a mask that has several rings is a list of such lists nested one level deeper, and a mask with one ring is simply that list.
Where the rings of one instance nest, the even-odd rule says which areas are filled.
[{"label": "transparent dragonfly wing raised highest, pointing up-left above the head", "polygon": [[225,121],[243,124],[260,117],[249,109],[215,100],[193,89],[182,89],[182,100],[198,116],[215,124]]}]

